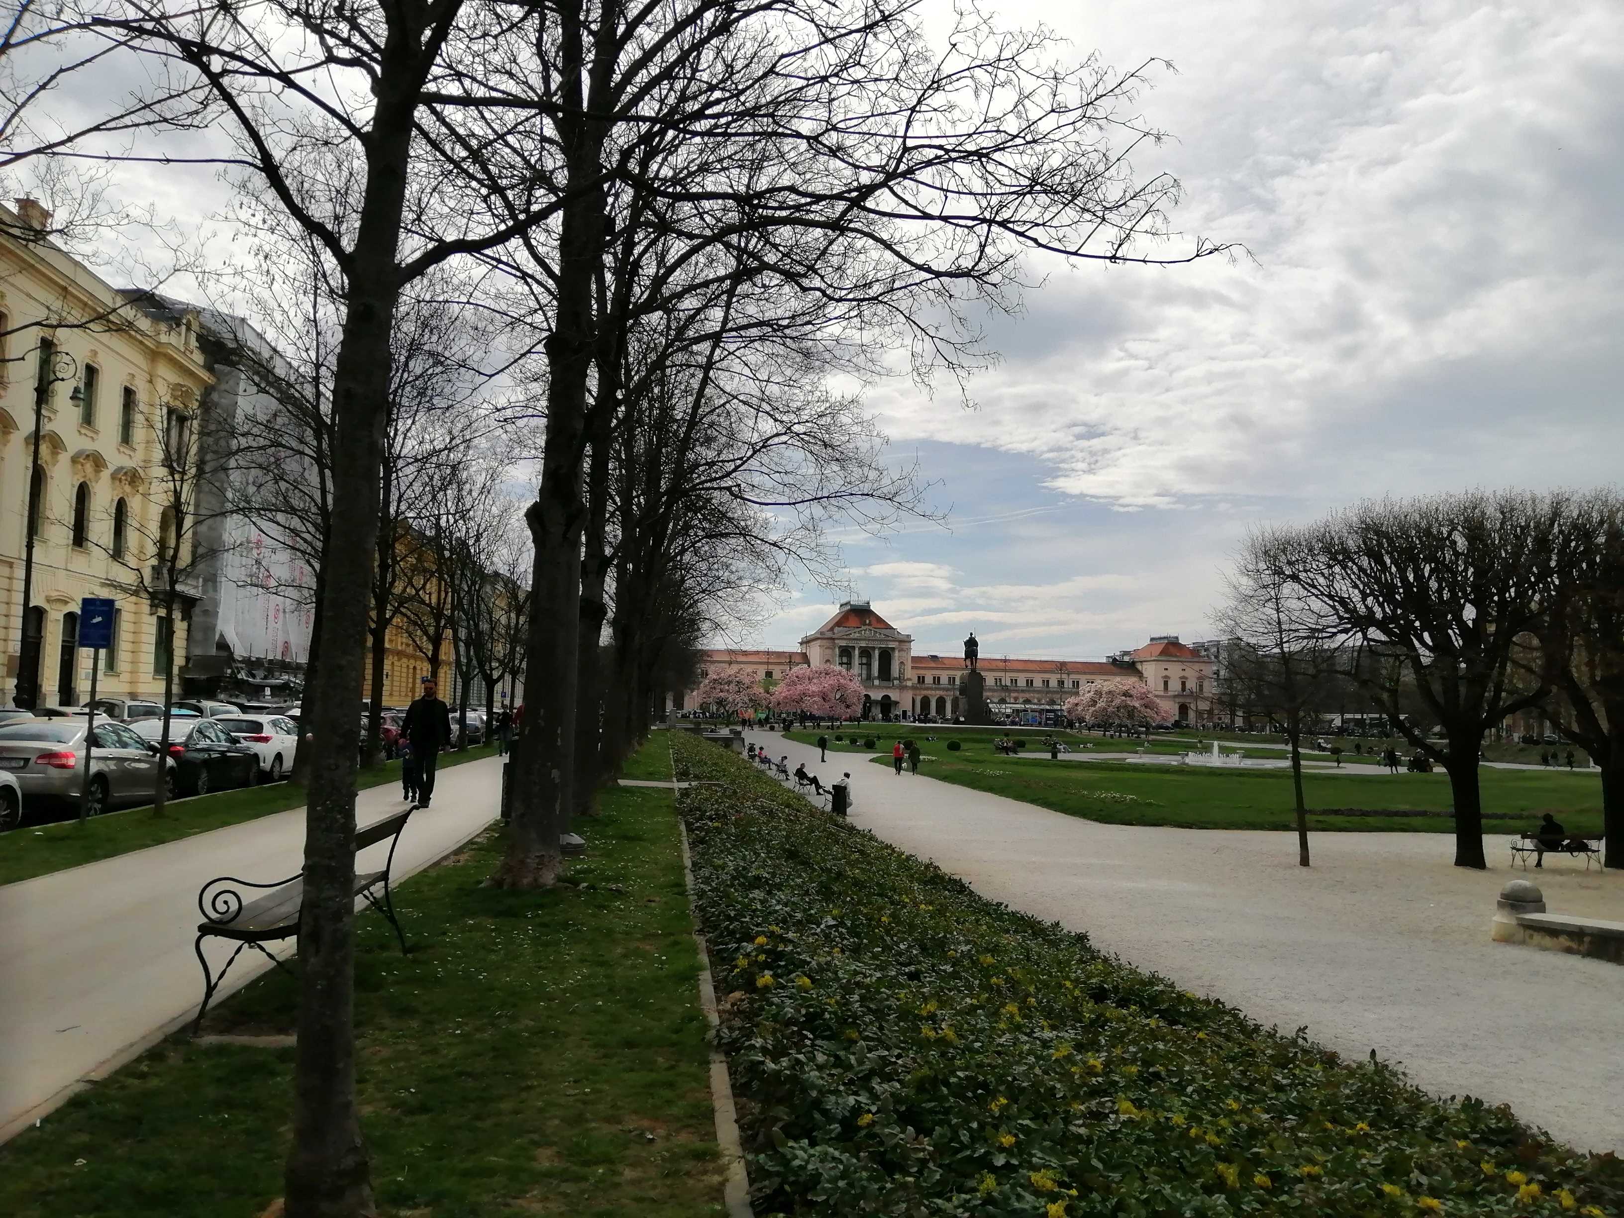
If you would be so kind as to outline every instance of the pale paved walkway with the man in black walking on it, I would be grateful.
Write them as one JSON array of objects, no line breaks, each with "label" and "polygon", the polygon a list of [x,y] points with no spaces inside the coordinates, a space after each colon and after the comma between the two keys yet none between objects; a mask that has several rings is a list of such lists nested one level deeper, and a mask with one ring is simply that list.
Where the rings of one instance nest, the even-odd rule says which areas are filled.
[{"label": "pale paved walkway with the man in black walking on it", "polygon": [[[495,758],[440,770],[434,807],[414,812],[401,835],[395,875],[421,870],[477,833],[495,817],[500,788]],[[361,793],[356,815],[365,825],[403,807],[387,783]],[[299,809],[0,887],[0,1142],[80,1080],[104,1077],[197,1015],[203,974],[192,942],[206,880],[296,875],[302,851]],[[374,854],[372,866],[382,867],[387,851],[388,843],[364,851],[362,869]],[[222,960],[229,947],[216,940],[203,950]],[[221,992],[270,966],[245,952]]]}]

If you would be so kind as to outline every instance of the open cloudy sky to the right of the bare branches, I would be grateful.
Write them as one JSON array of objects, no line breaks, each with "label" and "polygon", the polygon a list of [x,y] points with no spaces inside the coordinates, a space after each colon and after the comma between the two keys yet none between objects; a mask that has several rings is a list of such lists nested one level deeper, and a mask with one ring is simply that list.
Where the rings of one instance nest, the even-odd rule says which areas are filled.
[{"label": "open cloudy sky to the right of the bare branches", "polygon": [[[948,529],[848,541],[853,591],[952,651],[1203,638],[1247,525],[1364,495],[1596,486],[1624,456],[1624,5],[997,5],[1117,67],[1176,136],[1138,158],[1250,260],[1057,268],[989,326],[963,412],[872,396]],[[793,646],[801,590],[750,641]]]}]

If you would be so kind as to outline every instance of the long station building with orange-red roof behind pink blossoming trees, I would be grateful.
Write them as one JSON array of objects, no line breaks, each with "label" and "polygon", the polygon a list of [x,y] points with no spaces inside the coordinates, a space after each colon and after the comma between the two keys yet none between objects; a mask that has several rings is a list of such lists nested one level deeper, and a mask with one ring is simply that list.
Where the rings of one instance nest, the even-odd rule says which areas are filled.
[{"label": "long station building with orange-red roof behind pink blossoming trees", "polygon": [[[838,664],[856,676],[869,700],[867,718],[953,719],[963,708],[963,656],[914,654],[913,635],[893,627],[867,601],[844,601],[801,640],[799,651],[702,651],[698,680],[718,669],[739,669],[771,689],[789,669],[809,664]],[[1067,698],[1101,680],[1148,685],[1168,721],[1205,723],[1213,711],[1210,645],[1189,646],[1176,635],[1153,637],[1142,648],[1099,661],[1025,659],[983,648],[978,666],[999,718],[1041,721],[1044,711],[1059,711]],[[671,706],[692,708],[693,690],[674,693]]]}]

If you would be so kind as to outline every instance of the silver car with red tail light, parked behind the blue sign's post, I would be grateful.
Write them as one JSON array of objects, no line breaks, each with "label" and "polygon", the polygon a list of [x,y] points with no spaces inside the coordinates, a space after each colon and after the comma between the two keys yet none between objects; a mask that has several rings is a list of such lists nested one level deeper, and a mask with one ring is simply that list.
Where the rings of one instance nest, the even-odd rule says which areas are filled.
[{"label": "silver car with red tail light, parked behind the blue sign's post", "polygon": [[[23,799],[29,804],[78,801],[84,778],[84,726],[83,719],[0,724],[0,770],[16,778]],[[158,767],[153,747],[125,724],[97,723],[89,814],[151,802]]]}]

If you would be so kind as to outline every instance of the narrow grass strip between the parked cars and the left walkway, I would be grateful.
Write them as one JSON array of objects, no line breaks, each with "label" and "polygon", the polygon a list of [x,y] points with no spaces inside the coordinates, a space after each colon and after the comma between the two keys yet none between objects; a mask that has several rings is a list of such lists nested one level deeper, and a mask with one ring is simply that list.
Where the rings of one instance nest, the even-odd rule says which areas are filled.
[{"label": "narrow grass strip between the parked cars and the left walkway", "polygon": [[[451,752],[440,758],[440,768],[494,755],[495,745]],[[400,771],[400,762],[387,762],[375,770],[362,770],[356,786],[398,783]],[[132,849],[162,846],[166,841],[179,841],[213,828],[240,825],[244,820],[304,807],[304,801],[302,786],[276,783],[171,801],[162,817],[154,817],[149,807],[133,807],[128,812],[96,817],[83,825],[78,820],[57,825],[24,823],[0,835],[0,883],[16,883],[65,867],[128,854]]]}]

